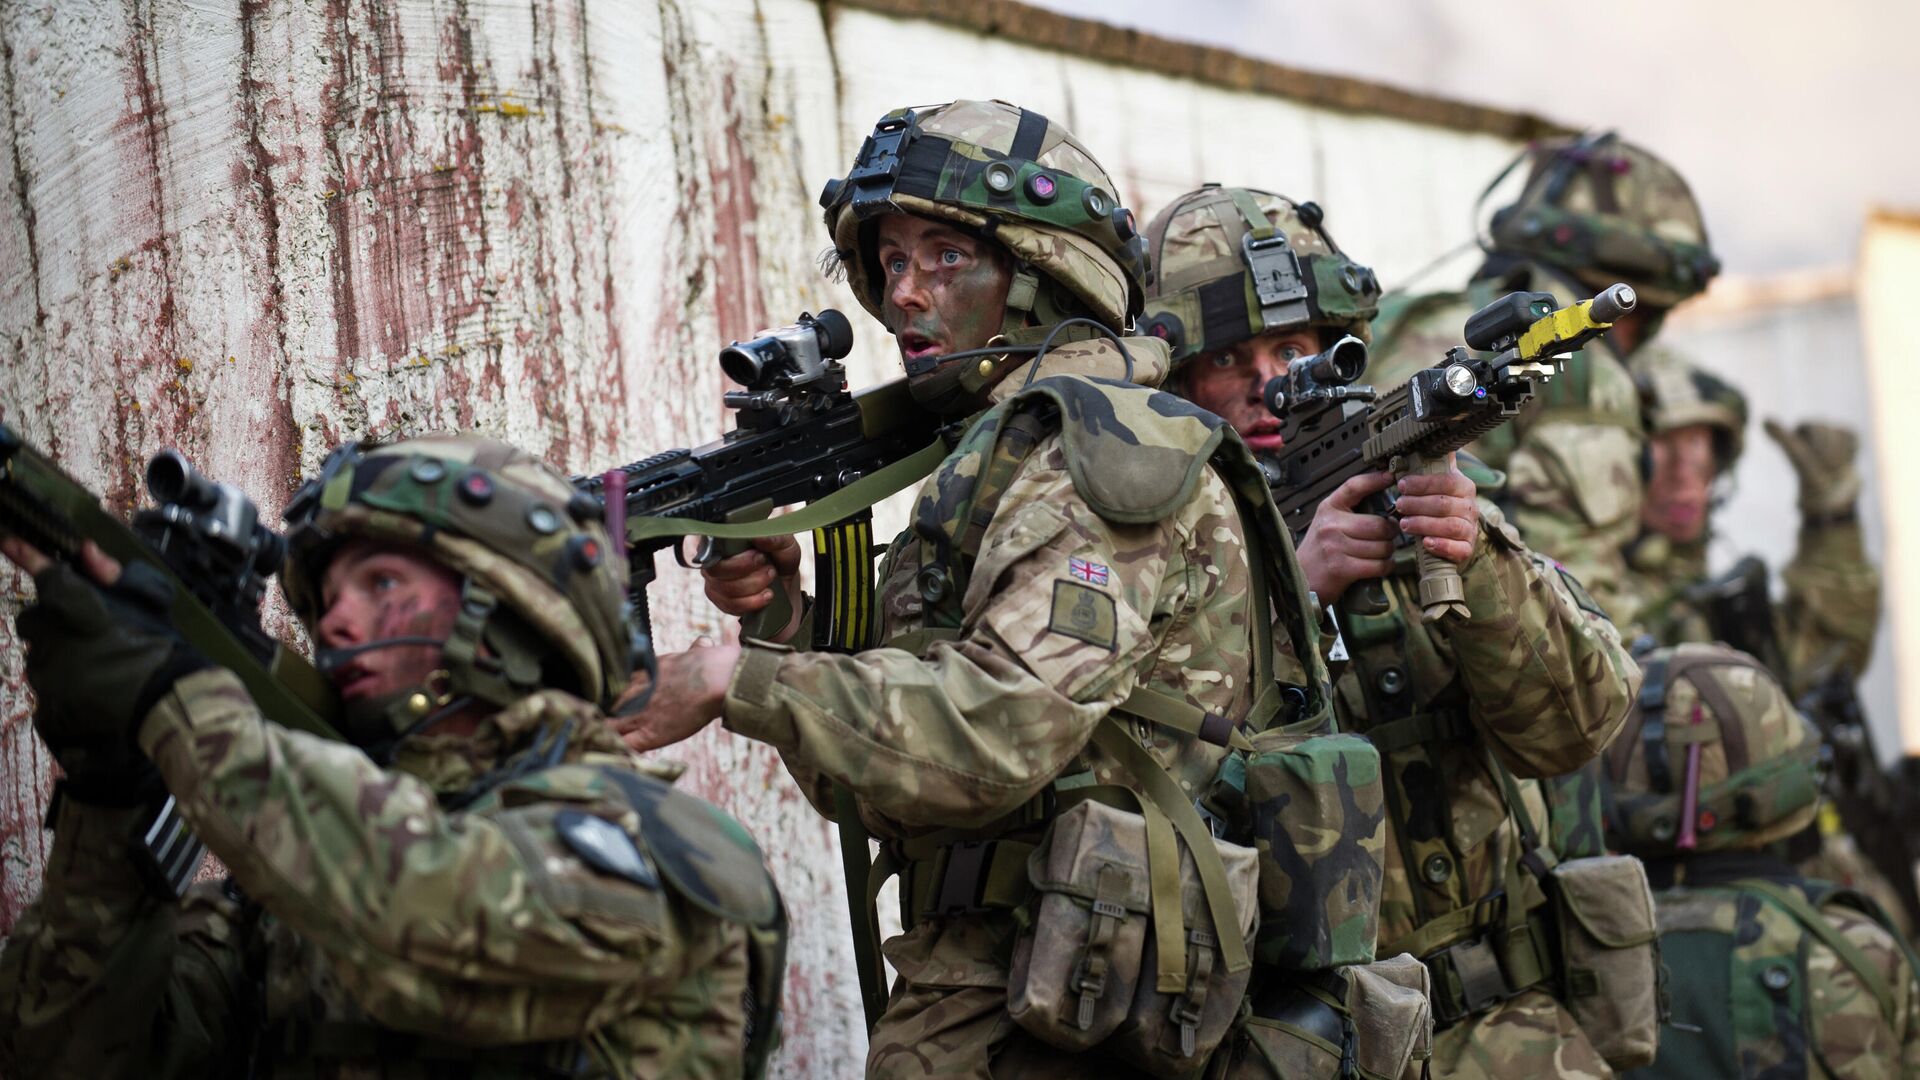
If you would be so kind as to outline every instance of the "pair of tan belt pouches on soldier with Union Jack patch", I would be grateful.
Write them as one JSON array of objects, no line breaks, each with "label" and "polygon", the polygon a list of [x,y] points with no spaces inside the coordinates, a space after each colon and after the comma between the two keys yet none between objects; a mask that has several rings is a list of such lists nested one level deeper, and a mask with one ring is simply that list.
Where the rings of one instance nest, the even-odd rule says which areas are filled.
[{"label": "pair of tan belt pouches on soldier with Union Jack patch", "polygon": [[1133,813],[1104,796],[1056,817],[1027,863],[1035,903],[1014,944],[1008,1015],[1050,1045],[1100,1045],[1154,1076],[1188,1076],[1225,1038],[1252,978],[1210,919],[1213,874],[1202,861],[1223,878],[1236,915],[1225,932],[1238,934],[1244,957],[1258,857],[1210,836],[1196,851],[1154,799]]}]

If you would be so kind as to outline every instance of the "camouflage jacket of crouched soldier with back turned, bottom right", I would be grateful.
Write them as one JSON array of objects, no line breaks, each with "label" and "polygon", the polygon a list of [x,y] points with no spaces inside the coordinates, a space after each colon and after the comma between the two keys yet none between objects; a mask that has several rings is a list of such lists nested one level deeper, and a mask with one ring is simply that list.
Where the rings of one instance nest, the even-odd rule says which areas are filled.
[{"label": "camouflage jacket of crouched soldier with back turned, bottom right", "polygon": [[[1784,872],[1772,884],[1799,892]],[[1822,886],[1811,896],[1818,901]],[[1834,899],[1818,903],[1862,974],[1751,884],[1670,888],[1655,903],[1674,1015],[1659,1059],[1626,1076],[1920,1076],[1920,984],[1878,920]]]}]

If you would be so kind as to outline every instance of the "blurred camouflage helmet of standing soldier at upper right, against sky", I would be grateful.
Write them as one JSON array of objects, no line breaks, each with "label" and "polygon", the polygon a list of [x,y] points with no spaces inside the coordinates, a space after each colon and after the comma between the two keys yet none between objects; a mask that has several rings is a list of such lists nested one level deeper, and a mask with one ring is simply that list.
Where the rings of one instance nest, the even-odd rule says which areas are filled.
[{"label": "blurred camouflage helmet of standing soldier at upper right, against sky", "polygon": [[1496,252],[1594,288],[1626,281],[1655,307],[1680,304],[1720,273],[1699,204],[1667,161],[1611,131],[1538,140],[1524,158],[1521,198],[1494,213]]}]

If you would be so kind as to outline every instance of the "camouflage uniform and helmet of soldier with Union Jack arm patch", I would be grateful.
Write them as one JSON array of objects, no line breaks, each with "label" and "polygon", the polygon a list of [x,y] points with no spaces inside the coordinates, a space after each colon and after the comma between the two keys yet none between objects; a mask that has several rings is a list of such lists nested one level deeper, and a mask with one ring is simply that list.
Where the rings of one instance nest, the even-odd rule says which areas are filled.
[{"label": "camouflage uniform and helmet of soldier with Union Jack arm patch", "polygon": [[[1110,325],[1131,317],[1139,279],[1129,263],[1139,244],[1094,227],[1102,223],[1087,227],[1098,242],[1073,231],[1096,200],[1102,211],[1112,208],[1104,194],[1112,184],[1069,135],[998,102],[954,102],[883,119],[862,165],[879,158],[876,144],[900,131],[889,125],[902,115],[918,144],[881,148],[908,158],[885,206],[995,223],[993,238],[1020,258],[1008,315],[1020,325],[1008,327],[1010,338],[1044,338],[1046,319],[1058,321],[1069,304]],[[948,144],[945,165],[939,156],[931,165],[914,160]],[[981,165],[1002,160],[1018,165],[1008,188],[1037,167],[1062,188],[1092,186],[1062,190],[1054,209],[1021,204],[1020,213],[1002,213],[981,186],[998,183],[983,181]],[[929,188],[910,194],[904,184],[918,169],[939,181],[924,177]],[[879,317],[862,198],[849,179],[829,184],[822,202],[854,294]],[[1046,213],[1064,217],[1054,223]],[[1119,213],[1112,211],[1114,223]],[[1131,236],[1131,219],[1123,233]],[[972,371],[975,361],[964,363]],[[995,363],[1014,367],[989,390]],[[920,490],[912,527],[879,569],[876,648],[743,650],[726,726],[776,746],[822,813],[841,813],[835,794],[851,794],[860,822],[881,838],[883,869],[900,871],[906,932],[883,945],[899,980],[872,1032],[870,1076],[985,1076],[989,1063],[995,1076],[1129,1072],[1020,1028],[1008,1015],[1008,967],[1027,899],[1027,853],[1056,803],[1089,784],[1140,792],[1140,776],[1098,734],[1125,724],[1121,742],[1144,746],[1194,794],[1227,753],[1192,734],[1121,721],[1116,709],[1150,690],[1240,721],[1260,698],[1252,621],[1267,615],[1256,611],[1238,500],[1263,498],[1263,486],[1250,461],[1258,490],[1233,490],[1202,467],[1210,448],[1233,436],[1217,417],[1148,390],[1165,371],[1165,348],[1152,338],[1075,340],[1025,363],[981,363],[968,392],[989,407]],[[1033,392],[1023,392],[1033,375]],[[1039,413],[1029,407],[1037,394],[1054,396]],[[1012,407],[1014,398],[1023,405]],[[1023,427],[1035,415],[1043,421]],[[1290,563],[1281,544],[1277,557]],[[1311,644],[1294,651],[1298,634],[1311,636],[1306,598],[1273,601],[1296,628],[1277,642],[1279,678],[1300,686],[1309,676],[1296,657],[1317,663]],[[973,871],[962,869],[968,861]],[[962,903],[952,903],[956,896]]]}]

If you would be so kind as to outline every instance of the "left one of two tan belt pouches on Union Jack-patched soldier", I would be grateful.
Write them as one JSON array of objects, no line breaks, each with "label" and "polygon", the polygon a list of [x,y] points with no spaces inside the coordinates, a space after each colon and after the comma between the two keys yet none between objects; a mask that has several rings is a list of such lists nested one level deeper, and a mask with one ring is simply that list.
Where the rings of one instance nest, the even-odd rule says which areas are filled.
[{"label": "left one of two tan belt pouches on Union Jack-patched soldier", "polygon": [[1062,1049],[1106,1040],[1133,1009],[1152,911],[1146,819],[1083,801],[1027,859],[1035,911],[1014,942],[1006,1011]]}]

